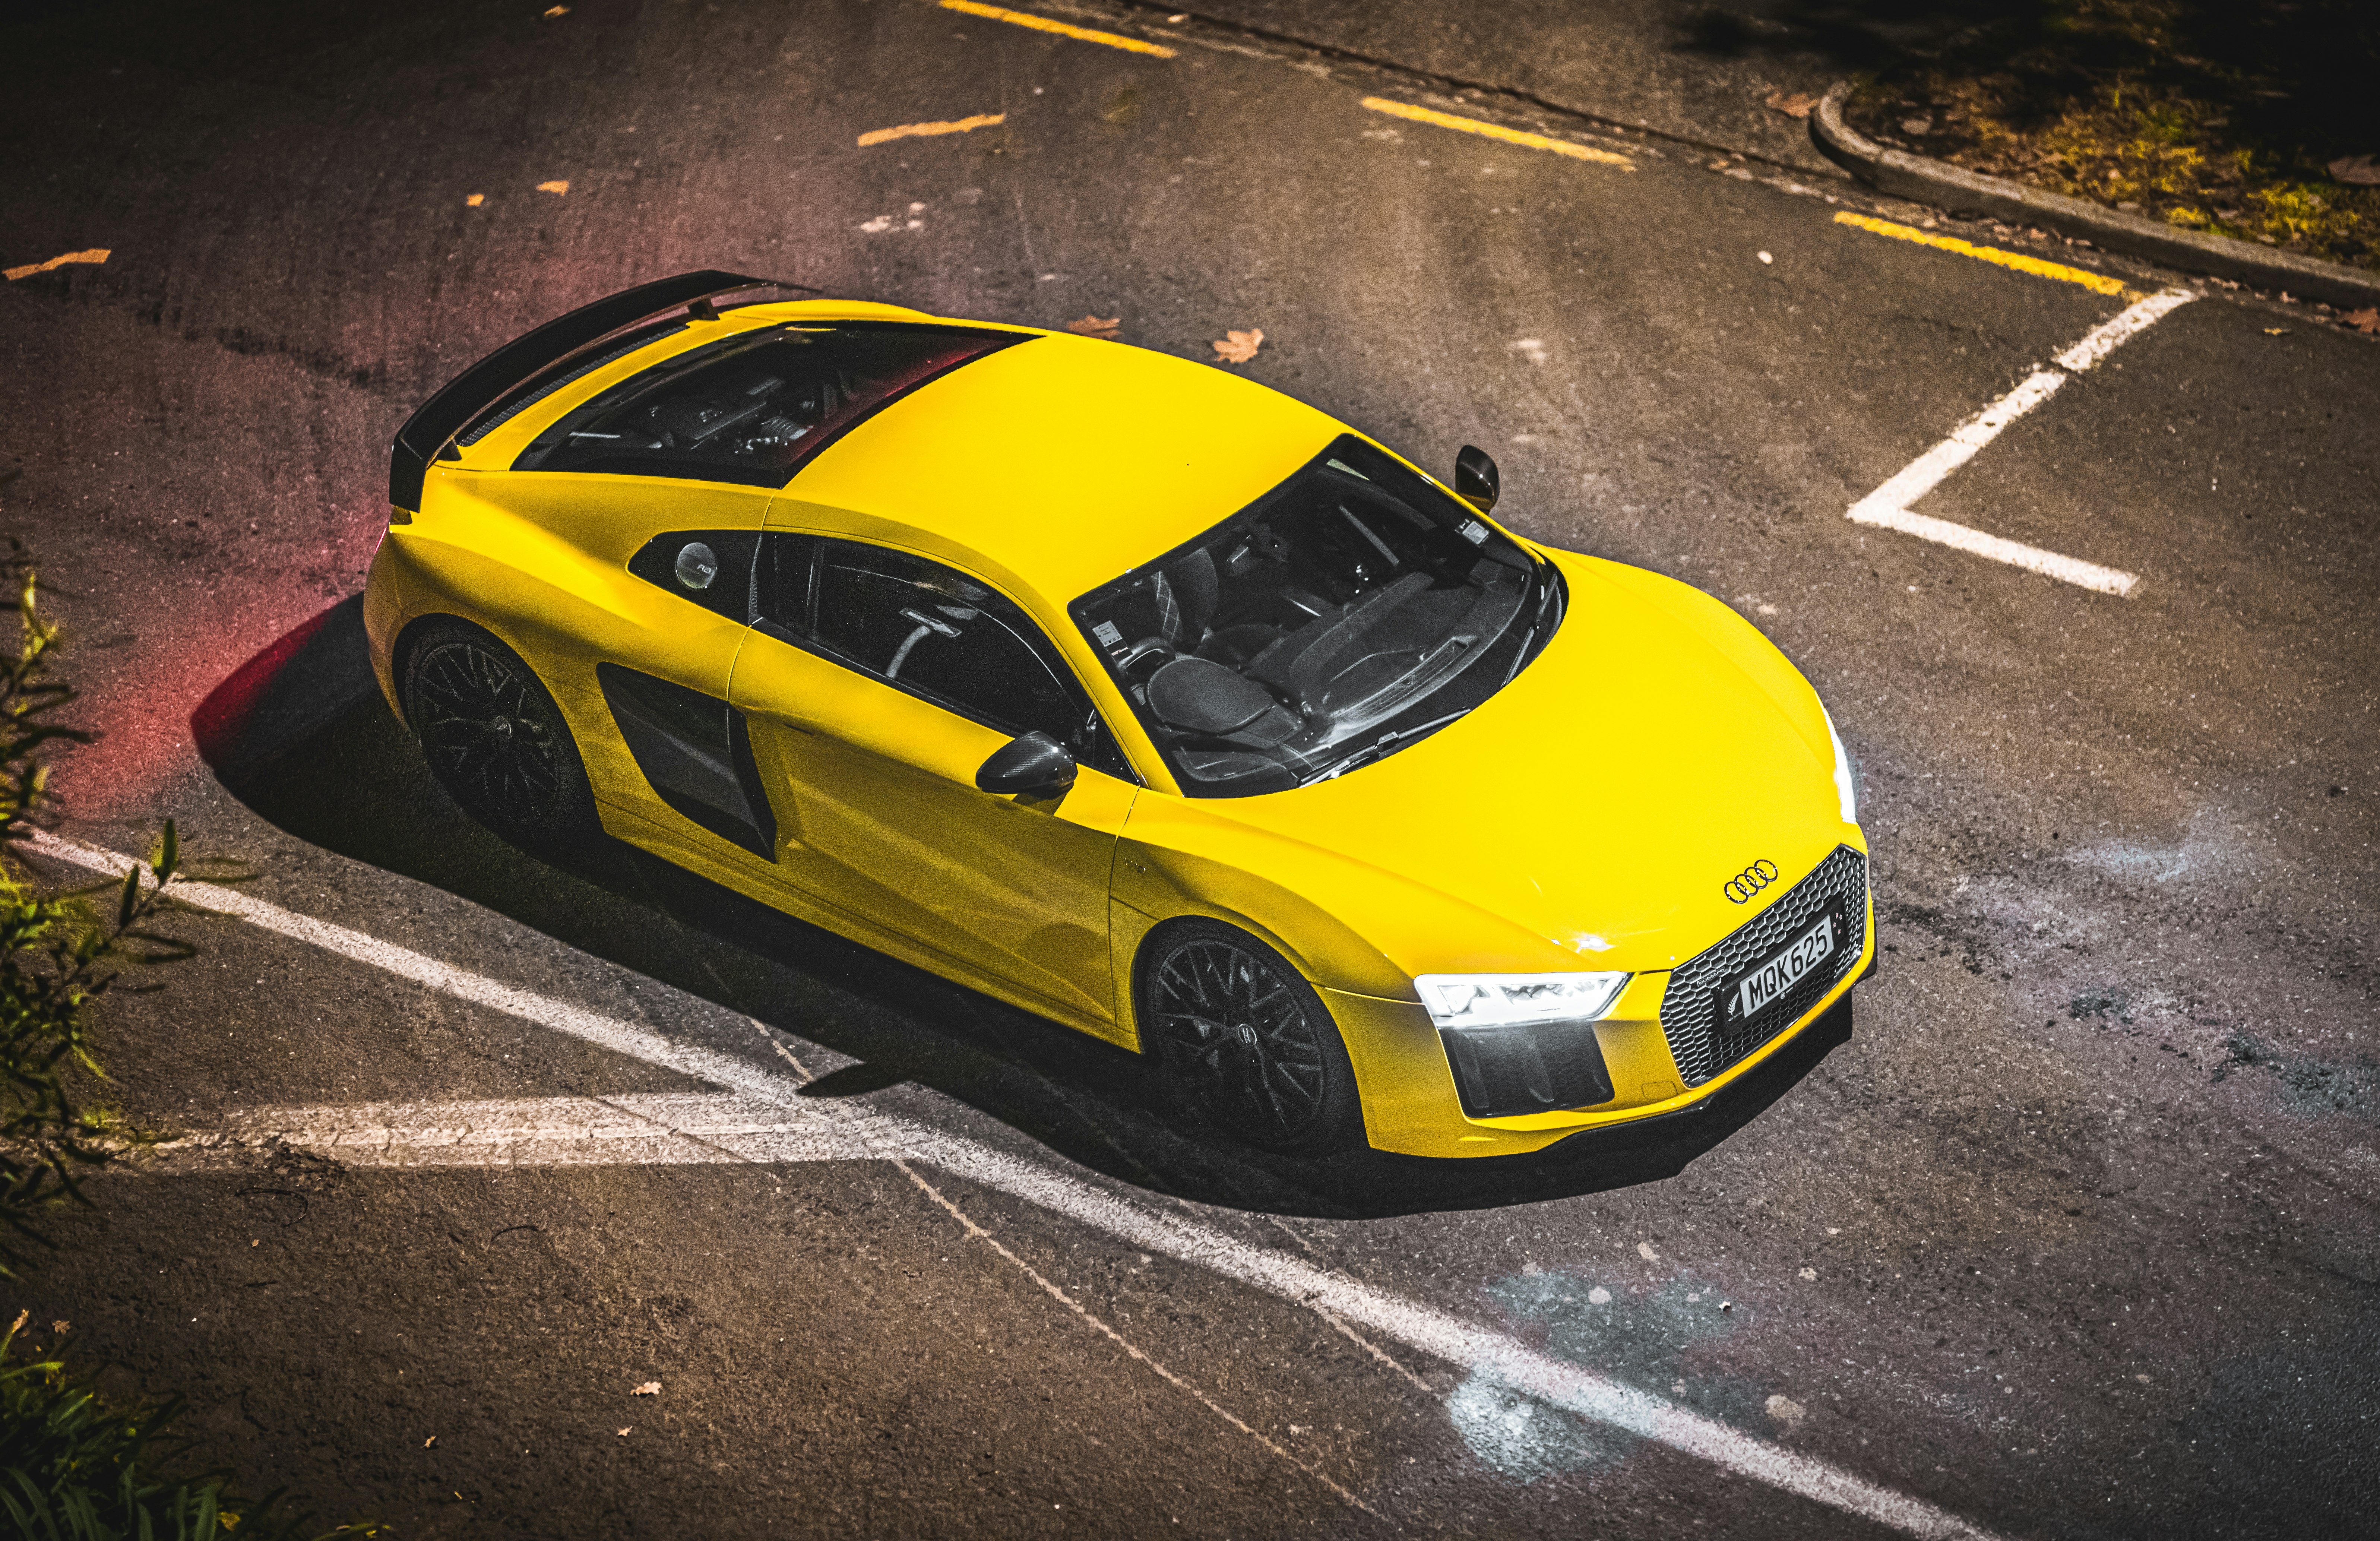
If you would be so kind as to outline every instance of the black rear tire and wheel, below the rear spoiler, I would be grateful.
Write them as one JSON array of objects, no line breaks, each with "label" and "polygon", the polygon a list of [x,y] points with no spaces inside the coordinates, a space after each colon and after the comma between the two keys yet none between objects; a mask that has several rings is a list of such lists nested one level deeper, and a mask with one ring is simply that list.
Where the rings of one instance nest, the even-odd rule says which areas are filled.
[{"label": "black rear tire and wheel, below the rear spoiler", "polygon": [[431,774],[466,815],[540,855],[593,834],[578,743],[512,648],[464,622],[431,622],[407,638],[402,698]]}]

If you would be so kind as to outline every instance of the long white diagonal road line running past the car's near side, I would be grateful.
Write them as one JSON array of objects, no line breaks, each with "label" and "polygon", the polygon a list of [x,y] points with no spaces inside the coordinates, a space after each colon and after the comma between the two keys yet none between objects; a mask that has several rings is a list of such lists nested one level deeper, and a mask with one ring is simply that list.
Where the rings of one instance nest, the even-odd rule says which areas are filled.
[{"label": "long white diagonal road line running past the car's near side", "polygon": [[[74,862],[90,872],[121,879],[136,867],[126,855],[100,850],[52,834],[36,831],[26,846],[40,855]],[[1909,1536],[1928,1541],[1994,1541],[1992,1531],[1968,1524],[1923,1498],[1897,1493],[1887,1486],[1856,1477],[1833,1462],[1802,1455],[1723,1424],[1668,1398],[1640,1391],[1592,1370],[1537,1353],[1526,1343],[1488,1327],[1464,1322],[1418,1300],[1373,1289],[1361,1279],[1316,1267],[1285,1253],[1250,1246],[1223,1229],[1159,1215],[1128,1203],[1107,1188],[1057,1172],[1047,1165],[1021,1160],[978,1141],[942,1134],[900,1117],[871,1115],[843,1103],[814,1103],[797,1096],[785,1077],[766,1065],[754,1065],[690,1043],[676,1043],[647,1027],[605,1017],[552,996],[521,991],[478,974],[469,974],[436,957],[381,941],[364,931],[333,927],[331,922],[298,915],[269,905],[248,893],[217,888],[212,884],[176,884],[178,896],[202,910],[214,910],[252,927],[305,941],[338,957],[367,962],[400,979],[412,979],[433,991],[488,1005],[493,1010],[550,1027],[585,1043],[609,1048],[621,1055],[662,1065],[716,1086],[728,1086],[747,1103],[774,1108],[795,1131],[843,1134],[871,1158],[912,1158],[952,1177],[962,1177],[985,1188],[997,1188],[1023,1198],[1052,1215],[1104,1231],[1142,1253],[1164,1253],[1183,1262],[1204,1267],[1223,1279],[1302,1305],[1326,1317],[1338,1317],[1364,1327],[1383,1339],[1395,1339],[1407,1348],[1428,1353],[1449,1365],[1497,1377],[1514,1391],[1533,1396],[1549,1408],[1576,1412],[1578,1417],[1611,1424],[1640,1439],[1664,1443],[1673,1450],[1697,1455],[1726,1472],[1764,1481],[1785,1493],[1797,1493],[1814,1503],[1837,1508],[1887,1524]],[[536,1098],[533,1103],[543,1103]],[[633,1098],[612,1098],[614,1105],[633,1110]],[[519,1103],[514,1103],[519,1108]],[[683,1108],[681,1108],[683,1112]],[[436,1115],[428,1115],[436,1119]],[[516,1117],[516,1115],[509,1115]],[[593,1115],[588,1115],[593,1119]],[[740,1112],[735,1117],[743,1117]],[[600,1119],[593,1119],[600,1124]],[[728,1138],[774,1138],[774,1134],[750,1134]],[[726,1143],[726,1141],[719,1141]],[[823,1143],[823,1141],[821,1141]],[[345,1160],[345,1158],[343,1158]],[[771,1158],[774,1160],[774,1158]],[[795,1158],[800,1160],[800,1158]]]}]

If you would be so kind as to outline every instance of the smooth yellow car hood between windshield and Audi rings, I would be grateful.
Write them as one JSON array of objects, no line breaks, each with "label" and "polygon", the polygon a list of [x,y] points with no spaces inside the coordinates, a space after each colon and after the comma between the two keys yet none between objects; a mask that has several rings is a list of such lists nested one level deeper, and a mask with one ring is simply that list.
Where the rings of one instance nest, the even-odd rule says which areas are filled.
[{"label": "smooth yellow car hood between windshield and Audi rings", "polygon": [[[1861,843],[1818,695],[1768,638],[1685,584],[1547,555],[1568,612],[1476,712],[1333,781],[1207,805],[1526,934],[1449,927],[1411,969],[1668,969]],[[1733,903],[1761,860],[1783,881]]]}]

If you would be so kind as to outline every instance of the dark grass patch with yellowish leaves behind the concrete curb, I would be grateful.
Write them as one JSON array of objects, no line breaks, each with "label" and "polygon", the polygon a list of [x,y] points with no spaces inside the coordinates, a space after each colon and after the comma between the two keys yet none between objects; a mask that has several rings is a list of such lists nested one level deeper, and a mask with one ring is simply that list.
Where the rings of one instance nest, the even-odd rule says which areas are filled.
[{"label": "dark grass patch with yellowish leaves behind the concrete curb", "polygon": [[[1878,60],[1847,117],[1916,155],[2380,269],[2380,5],[2035,0]],[[2370,171],[2380,176],[2380,171]]]}]

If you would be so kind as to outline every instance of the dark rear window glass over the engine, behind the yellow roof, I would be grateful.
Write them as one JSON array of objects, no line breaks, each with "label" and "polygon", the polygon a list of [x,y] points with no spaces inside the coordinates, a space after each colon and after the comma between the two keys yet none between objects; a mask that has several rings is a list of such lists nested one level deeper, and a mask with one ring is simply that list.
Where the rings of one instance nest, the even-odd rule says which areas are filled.
[{"label": "dark rear window glass over the engine, behind the yellow roof", "polygon": [[807,457],[885,403],[1021,341],[897,322],[743,333],[654,364],[564,412],[512,469],[785,486]]}]

